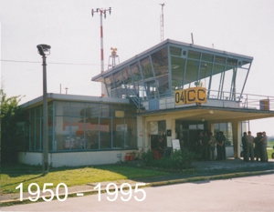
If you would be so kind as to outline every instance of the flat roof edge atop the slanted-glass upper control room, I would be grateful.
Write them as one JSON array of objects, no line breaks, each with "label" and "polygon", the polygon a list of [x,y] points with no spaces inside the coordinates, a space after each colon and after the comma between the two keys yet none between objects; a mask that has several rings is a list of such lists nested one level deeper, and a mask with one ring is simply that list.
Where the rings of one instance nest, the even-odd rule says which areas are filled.
[{"label": "flat roof edge atop the slanted-glass upper control room", "polygon": [[238,57],[238,58],[241,58],[241,59],[244,59],[244,60],[248,60],[250,62],[253,60],[252,56],[244,56],[244,55],[239,55],[239,54],[236,54],[236,53],[231,53],[231,52],[227,52],[227,51],[217,50],[215,48],[209,48],[209,47],[205,47],[205,46],[201,46],[201,45],[187,44],[187,43],[180,42],[180,41],[166,39],[163,42],[161,42],[160,44],[154,45],[153,47],[151,47],[151,48],[143,51],[142,53],[140,53],[140,54],[138,54],[136,56],[132,56],[131,58],[127,59],[126,61],[122,62],[121,64],[116,65],[116,66],[112,67],[111,69],[106,70],[103,73],[100,73],[97,76],[93,76],[91,78],[91,81],[96,81],[97,79],[100,79],[102,76],[107,76],[108,74],[111,74],[112,72],[115,73],[116,71],[118,71],[119,69],[121,69],[122,66],[125,66],[125,65],[131,63],[131,61],[133,61],[133,60],[135,60],[137,58],[140,58],[140,57],[142,57],[142,56],[144,56],[144,55],[146,55],[146,54],[148,54],[150,52],[153,52],[155,49],[161,48],[164,45],[181,45],[181,46],[185,46],[185,47],[191,47],[191,48],[196,49],[196,50],[202,50],[202,51],[206,51],[206,52],[211,52],[211,53],[214,53],[216,55]]}]

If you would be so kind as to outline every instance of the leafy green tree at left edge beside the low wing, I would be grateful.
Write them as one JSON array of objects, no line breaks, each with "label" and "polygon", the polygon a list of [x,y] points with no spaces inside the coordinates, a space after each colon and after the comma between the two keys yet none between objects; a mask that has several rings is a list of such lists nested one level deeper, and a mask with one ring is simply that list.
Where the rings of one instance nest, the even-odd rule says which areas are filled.
[{"label": "leafy green tree at left edge beside the low wing", "polygon": [[7,97],[4,90],[1,95],[1,163],[10,164],[17,161],[17,145],[21,135],[17,131],[17,123],[22,112],[18,106],[21,96]]}]

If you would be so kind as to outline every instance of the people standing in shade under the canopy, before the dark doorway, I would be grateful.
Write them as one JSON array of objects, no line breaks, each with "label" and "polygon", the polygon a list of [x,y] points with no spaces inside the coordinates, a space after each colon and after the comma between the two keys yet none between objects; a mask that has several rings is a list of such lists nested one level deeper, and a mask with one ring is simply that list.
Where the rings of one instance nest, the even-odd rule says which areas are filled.
[{"label": "people standing in shade under the canopy, before the dark doorway", "polygon": [[200,132],[198,138],[198,152],[203,160],[225,160],[227,157],[226,136],[222,131],[217,132],[216,136],[214,136],[212,132]]}]

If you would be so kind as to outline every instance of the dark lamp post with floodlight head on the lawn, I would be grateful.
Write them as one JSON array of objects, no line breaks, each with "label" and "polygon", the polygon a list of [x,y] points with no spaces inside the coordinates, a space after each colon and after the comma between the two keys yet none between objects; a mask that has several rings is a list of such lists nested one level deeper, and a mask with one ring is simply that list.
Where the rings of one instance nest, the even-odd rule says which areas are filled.
[{"label": "dark lamp post with floodlight head on the lawn", "polygon": [[48,173],[48,123],[47,123],[47,64],[50,45],[37,45],[38,53],[43,58],[43,175]]}]

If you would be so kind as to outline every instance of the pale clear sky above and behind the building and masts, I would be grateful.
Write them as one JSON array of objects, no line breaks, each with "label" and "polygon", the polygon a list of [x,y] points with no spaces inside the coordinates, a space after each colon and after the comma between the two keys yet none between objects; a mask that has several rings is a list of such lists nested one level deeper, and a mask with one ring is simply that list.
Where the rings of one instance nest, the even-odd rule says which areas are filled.
[{"label": "pale clear sky above and behind the building and masts", "polygon": [[[245,94],[274,96],[272,0],[1,0],[1,87],[26,103],[43,95],[42,58],[37,45],[51,46],[47,56],[47,93],[100,96],[100,15],[103,19],[104,68],[111,47],[120,63],[163,38],[212,47],[254,60]],[[274,136],[274,118],[250,121],[250,130]]]}]

